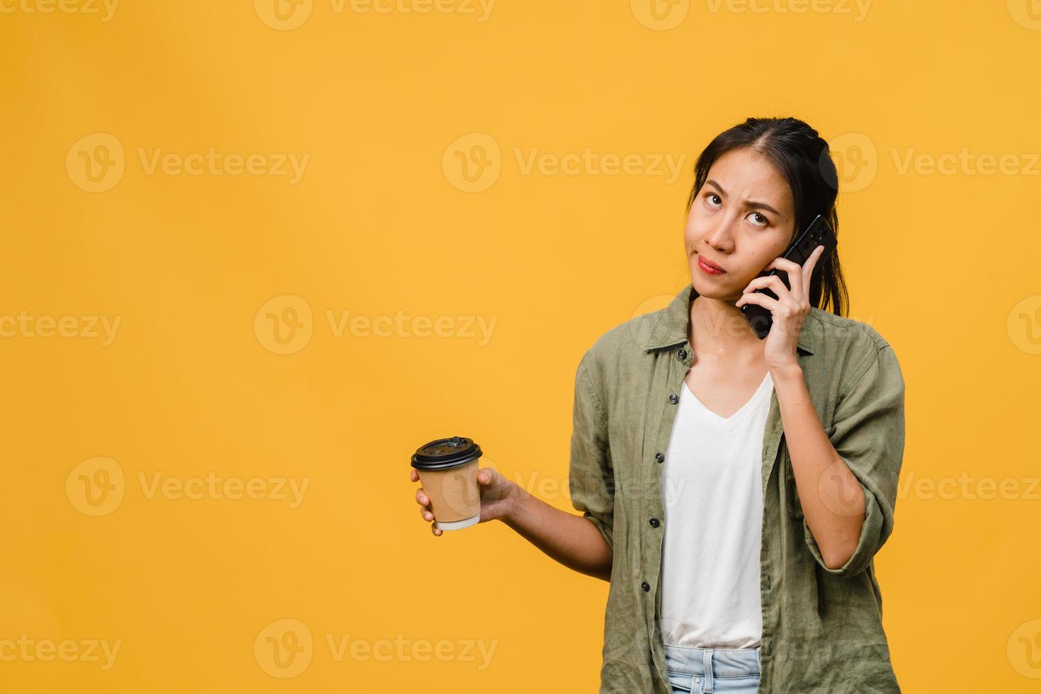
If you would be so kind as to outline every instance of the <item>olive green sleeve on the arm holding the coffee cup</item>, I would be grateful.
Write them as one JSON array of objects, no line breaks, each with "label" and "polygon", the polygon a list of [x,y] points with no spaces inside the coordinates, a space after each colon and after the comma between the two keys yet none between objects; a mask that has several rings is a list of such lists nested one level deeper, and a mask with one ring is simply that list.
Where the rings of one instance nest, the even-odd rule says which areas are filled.
[{"label": "olive green sleeve on the arm holding the coffee cup", "polygon": [[607,438],[607,411],[596,393],[586,352],[575,374],[568,488],[583,512],[614,549],[614,467]]}]

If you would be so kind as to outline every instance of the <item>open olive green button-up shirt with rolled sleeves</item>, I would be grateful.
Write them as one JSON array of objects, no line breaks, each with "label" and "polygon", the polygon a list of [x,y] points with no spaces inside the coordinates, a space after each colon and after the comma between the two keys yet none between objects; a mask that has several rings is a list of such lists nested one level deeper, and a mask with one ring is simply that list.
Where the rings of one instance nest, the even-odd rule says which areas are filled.
[{"label": "open olive green button-up shirt with rolled sleeves", "polygon": [[[569,489],[614,551],[601,693],[671,694],[661,628],[662,469],[684,377],[691,284],[664,309],[604,333],[576,371]],[[829,568],[803,517],[775,391],[763,437],[759,692],[898,693],[873,557],[893,531],[904,456],[904,380],[866,324],[816,307],[796,359],[835,449],[861,483],[857,548]]]}]

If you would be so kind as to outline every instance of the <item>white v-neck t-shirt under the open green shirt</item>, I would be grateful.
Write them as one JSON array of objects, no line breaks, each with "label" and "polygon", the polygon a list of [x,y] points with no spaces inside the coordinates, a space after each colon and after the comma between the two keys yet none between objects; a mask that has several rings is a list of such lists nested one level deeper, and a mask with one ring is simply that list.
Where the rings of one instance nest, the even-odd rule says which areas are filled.
[{"label": "white v-neck t-shirt under the open green shirt", "polygon": [[684,383],[662,477],[662,637],[697,648],[761,645],[762,451],[769,371],[721,417]]}]

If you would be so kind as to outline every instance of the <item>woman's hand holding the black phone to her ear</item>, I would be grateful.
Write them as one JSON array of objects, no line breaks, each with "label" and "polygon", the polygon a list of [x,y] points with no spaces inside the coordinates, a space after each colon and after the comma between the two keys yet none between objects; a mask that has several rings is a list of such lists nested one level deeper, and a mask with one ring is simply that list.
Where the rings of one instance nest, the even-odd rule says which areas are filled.
[{"label": "woman's hand holding the black phone to her ear", "polygon": [[[775,267],[784,271],[788,274],[791,289],[785,287],[784,282],[777,275],[757,277],[748,282],[741,298],[734,304],[738,308],[744,304],[759,304],[763,308],[769,309],[773,325],[770,327],[770,332],[764,340],[766,343],[763,345],[767,368],[784,368],[798,364],[795,359],[795,345],[798,343],[798,334],[803,330],[806,314],[810,312],[810,277],[813,275],[813,267],[817,264],[823,251],[823,246],[815,248],[804,265],[786,258],[775,258],[763,271]],[[770,299],[766,294],[756,293],[756,289],[762,288],[769,289],[778,298]]]}]

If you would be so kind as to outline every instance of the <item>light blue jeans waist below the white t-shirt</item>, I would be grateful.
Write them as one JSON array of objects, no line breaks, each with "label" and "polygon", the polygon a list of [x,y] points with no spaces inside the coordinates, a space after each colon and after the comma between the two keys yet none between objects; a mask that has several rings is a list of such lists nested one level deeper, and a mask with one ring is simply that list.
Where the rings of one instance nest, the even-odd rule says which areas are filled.
[{"label": "light blue jeans waist below the white t-shirt", "polygon": [[762,648],[688,648],[665,644],[672,694],[756,694]]}]

